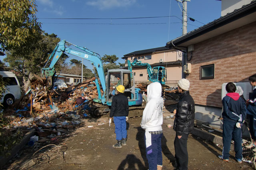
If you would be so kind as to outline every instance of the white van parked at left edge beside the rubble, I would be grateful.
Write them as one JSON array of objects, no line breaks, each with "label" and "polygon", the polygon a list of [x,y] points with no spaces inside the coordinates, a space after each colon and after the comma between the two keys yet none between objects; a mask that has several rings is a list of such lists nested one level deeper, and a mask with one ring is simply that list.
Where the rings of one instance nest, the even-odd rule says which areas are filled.
[{"label": "white van parked at left edge beside the rubble", "polygon": [[21,96],[20,83],[13,72],[0,71],[0,75],[3,76],[4,82],[6,82],[6,91],[2,93],[3,97],[0,102],[4,106],[10,106]]}]

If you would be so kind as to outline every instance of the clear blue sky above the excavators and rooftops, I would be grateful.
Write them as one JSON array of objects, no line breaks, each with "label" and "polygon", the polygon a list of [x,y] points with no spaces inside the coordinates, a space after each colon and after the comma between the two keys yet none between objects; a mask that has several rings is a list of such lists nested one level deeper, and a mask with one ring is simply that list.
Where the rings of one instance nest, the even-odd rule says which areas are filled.
[{"label": "clear blue sky above the excavators and rooftops", "polygon": [[[42,30],[57,34],[103,57],[115,54],[117,62],[130,52],[157,48],[182,35],[182,4],[176,0],[36,0]],[[180,7],[179,7],[180,6]],[[171,8],[170,8],[171,7]],[[221,16],[221,1],[188,2],[188,32]],[[43,18],[138,18],[143,19],[43,19]],[[204,24],[202,24],[204,23]],[[72,59],[74,57],[70,57]],[[80,58],[75,57],[80,60]],[[90,62],[84,60],[90,68]]]}]

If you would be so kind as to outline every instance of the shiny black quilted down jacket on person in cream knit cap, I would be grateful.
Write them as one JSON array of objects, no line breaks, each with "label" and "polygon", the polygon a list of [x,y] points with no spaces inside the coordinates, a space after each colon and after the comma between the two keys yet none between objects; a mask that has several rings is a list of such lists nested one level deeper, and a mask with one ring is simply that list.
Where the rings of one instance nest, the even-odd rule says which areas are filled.
[{"label": "shiny black quilted down jacket on person in cream knit cap", "polygon": [[195,103],[190,96],[189,91],[185,91],[180,95],[180,101],[174,120],[174,130],[178,136],[189,134],[194,128],[195,120]]}]

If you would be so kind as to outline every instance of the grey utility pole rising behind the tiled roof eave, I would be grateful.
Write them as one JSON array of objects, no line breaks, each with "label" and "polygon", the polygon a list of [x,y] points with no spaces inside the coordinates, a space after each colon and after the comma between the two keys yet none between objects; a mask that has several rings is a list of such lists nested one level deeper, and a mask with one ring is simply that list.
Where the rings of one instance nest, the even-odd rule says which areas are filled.
[{"label": "grey utility pole rising behind the tiled roof eave", "polygon": [[[182,35],[187,34],[188,32],[188,15],[187,15],[187,1],[190,0],[176,0],[177,2],[182,3]],[[186,74],[184,73],[184,65],[186,64],[186,53],[182,52],[182,78],[186,78]]]}]

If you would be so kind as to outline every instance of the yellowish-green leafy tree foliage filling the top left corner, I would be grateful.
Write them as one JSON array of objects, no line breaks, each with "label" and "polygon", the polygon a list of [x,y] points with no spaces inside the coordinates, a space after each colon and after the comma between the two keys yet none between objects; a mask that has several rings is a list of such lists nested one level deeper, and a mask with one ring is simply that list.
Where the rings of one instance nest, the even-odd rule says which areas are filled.
[{"label": "yellowish-green leafy tree foliage filling the top left corner", "polygon": [[40,39],[41,24],[36,12],[35,0],[0,1],[0,50],[24,51],[22,48]]}]

